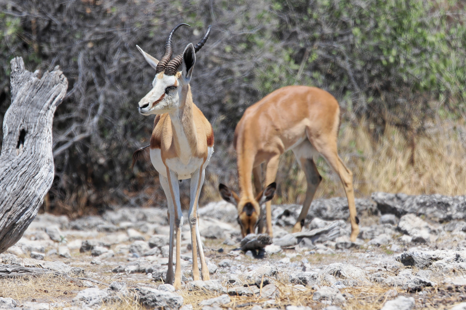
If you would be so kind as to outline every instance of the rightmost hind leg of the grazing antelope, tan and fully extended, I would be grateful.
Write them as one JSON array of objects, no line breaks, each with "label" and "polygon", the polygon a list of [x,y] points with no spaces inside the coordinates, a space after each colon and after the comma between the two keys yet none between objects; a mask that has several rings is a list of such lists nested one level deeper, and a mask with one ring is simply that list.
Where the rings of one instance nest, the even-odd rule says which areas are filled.
[{"label": "rightmost hind leg of the grazing antelope, tan and fully extended", "polygon": [[321,135],[312,139],[312,137],[309,137],[308,133],[308,138],[317,152],[321,153],[340,177],[346,193],[346,198],[348,199],[349,221],[351,223],[350,240],[354,242],[359,235],[359,219],[357,218],[356,204],[354,202],[353,173],[343,164],[342,159],[338,156],[336,134],[335,136]]}]

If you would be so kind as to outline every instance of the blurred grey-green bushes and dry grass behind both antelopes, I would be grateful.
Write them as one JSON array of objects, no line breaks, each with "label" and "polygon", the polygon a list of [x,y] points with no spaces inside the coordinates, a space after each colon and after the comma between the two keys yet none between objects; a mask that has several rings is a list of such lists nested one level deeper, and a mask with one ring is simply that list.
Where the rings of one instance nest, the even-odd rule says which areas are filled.
[{"label": "blurred grey-green bushes and dry grass behind both antelopes", "polygon": [[[203,202],[219,198],[220,181],[235,187],[230,145],[245,108],[297,84],[339,100],[340,153],[357,195],[464,194],[465,21],[464,3],[450,0],[0,0],[0,123],[13,57],[30,71],[59,65],[69,90],[55,114],[56,177],[45,210],[75,217],[164,205],[148,158],[130,171],[153,121],[137,112],[154,71],[136,44],[160,58],[174,25],[191,25],[175,34],[175,54],[212,25],[192,79],[215,132]],[[302,173],[284,158],[275,202],[300,202]],[[342,195],[328,166],[318,166],[329,181],[318,196]],[[183,188],[186,204],[188,181]]]}]

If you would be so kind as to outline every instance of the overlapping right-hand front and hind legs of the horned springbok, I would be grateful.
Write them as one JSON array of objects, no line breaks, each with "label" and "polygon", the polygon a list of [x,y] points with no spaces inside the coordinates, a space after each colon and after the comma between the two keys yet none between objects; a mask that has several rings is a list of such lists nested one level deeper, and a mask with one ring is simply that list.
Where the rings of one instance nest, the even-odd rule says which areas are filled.
[{"label": "overlapping right-hand front and hind legs of the horned springbok", "polygon": [[[201,172],[202,169],[202,172]],[[189,224],[191,225],[191,242],[192,242],[192,278],[193,280],[199,280],[199,267],[198,267],[198,252],[199,248],[199,259],[201,262],[201,273],[202,280],[210,280],[209,269],[206,264],[206,257],[204,256],[204,249],[202,247],[202,241],[199,234],[199,216],[198,216],[198,204],[199,195],[201,192],[202,185],[204,184],[205,170],[201,167],[191,175],[191,204],[189,207]],[[196,248],[197,245],[197,248]],[[197,277],[197,278],[195,278]]]}]

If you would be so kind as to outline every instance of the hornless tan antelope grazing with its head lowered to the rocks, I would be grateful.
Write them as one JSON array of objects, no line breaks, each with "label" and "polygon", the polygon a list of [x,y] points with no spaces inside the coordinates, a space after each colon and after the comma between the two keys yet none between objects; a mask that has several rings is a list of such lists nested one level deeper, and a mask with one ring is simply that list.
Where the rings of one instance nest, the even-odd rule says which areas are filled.
[{"label": "hornless tan antelope grazing with its head lowered to the rocks", "polygon": [[[302,230],[312,198],[322,180],[314,162],[314,158],[320,154],[342,181],[348,199],[350,240],[356,241],[359,219],[356,217],[354,203],[353,174],[337,153],[339,125],[338,102],[331,94],[316,87],[282,87],[246,109],[236,126],[233,139],[237,153],[240,195],[230,191],[225,185],[219,186],[222,197],[236,204],[238,208],[238,222],[243,237],[253,233],[256,227],[262,232],[263,225],[260,223],[260,203],[265,199],[258,201],[259,197],[254,198],[251,173],[254,176],[255,191],[258,193],[262,187],[260,164],[267,163],[265,184],[274,182],[280,155],[293,150],[308,184],[306,198],[293,232]],[[264,191],[270,191],[271,185]],[[266,222],[267,233],[272,237],[270,199],[266,199]]]}]

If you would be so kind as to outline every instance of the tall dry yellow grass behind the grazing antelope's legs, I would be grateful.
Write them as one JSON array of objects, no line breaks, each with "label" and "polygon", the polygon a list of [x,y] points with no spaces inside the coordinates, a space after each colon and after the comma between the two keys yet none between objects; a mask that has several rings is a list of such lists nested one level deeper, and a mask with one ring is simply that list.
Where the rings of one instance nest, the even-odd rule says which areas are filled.
[{"label": "tall dry yellow grass behind the grazing antelope's legs", "polygon": [[[372,192],[405,194],[462,195],[466,188],[466,126],[452,121],[438,121],[415,139],[415,162],[402,132],[387,127],[385,135],[374,142],[364,122],[357,127],[341,125],[338,152],[354,175],[356,196]],[[317,160],[323,181],[315,198],[344,197],[336,173],[323,158]],[[204,197],[219,200],[216,176],[206,178]],[[236,177],[230,184],[237,188]],[[275,204],[302,203],[306,193],[304,173],[293,152],[282,155],[277,175],[279,185]],[[203,198],[205,200],[205,198]]]}]

